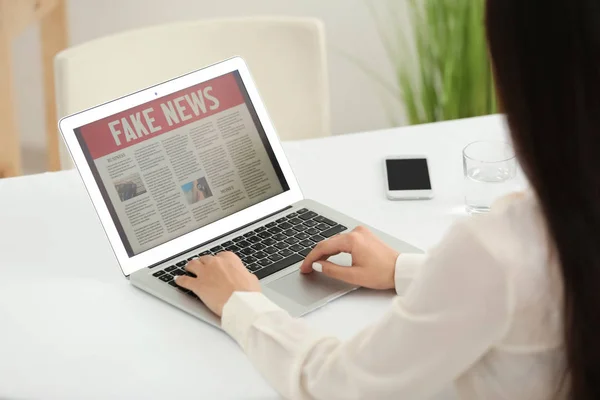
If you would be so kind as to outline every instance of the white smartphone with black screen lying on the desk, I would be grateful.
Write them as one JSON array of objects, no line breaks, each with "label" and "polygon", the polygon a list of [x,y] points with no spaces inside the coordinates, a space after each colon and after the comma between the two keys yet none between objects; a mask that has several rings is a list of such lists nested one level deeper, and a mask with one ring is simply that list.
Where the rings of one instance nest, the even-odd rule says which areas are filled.
[{"label": "white smartphone with black screen lying on the desk", "polygon": [[388,199],[425,200],[433,198],[427,157],[386,157],[383,165]]}]

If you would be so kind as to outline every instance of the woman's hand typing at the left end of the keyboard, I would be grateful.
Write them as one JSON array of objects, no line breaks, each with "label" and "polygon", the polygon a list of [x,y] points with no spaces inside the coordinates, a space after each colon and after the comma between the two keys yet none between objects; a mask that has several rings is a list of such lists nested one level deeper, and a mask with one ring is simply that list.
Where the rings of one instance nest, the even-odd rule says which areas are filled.
[{"label": "woman's hand typing at the left end of the keyboard", "polygon": [[260,292],[258,278],[248,272],[238,256],[228,251],[192,260],[185,269],[196,277],[182,275],[175,282],[196,293],[219,317],[233,292]]}]

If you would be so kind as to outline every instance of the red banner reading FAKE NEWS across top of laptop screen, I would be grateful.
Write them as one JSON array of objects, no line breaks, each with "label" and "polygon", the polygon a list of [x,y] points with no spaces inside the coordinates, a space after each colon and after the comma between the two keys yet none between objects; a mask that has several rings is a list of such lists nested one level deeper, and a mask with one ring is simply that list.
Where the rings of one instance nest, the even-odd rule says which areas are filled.
[{"label": "red banner reading FAKE NEWS across top of laptop screen", "polygon": [[134,146],[244,103],[231,74],[192,86],[80,128],[93,159]]}]

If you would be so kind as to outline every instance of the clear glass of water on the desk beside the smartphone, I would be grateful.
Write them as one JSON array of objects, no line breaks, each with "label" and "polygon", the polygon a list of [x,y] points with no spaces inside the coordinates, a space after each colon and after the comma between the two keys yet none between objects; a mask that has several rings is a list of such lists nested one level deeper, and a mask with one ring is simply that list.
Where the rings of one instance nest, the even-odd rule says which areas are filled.
[{"label": "clear glass of water on the desk beside the smartphone", "polygon": [[463,150],[463,168],[469,214],[489,212],[496,199],[516,189],[517,159],[506,142],[471,143]]}]

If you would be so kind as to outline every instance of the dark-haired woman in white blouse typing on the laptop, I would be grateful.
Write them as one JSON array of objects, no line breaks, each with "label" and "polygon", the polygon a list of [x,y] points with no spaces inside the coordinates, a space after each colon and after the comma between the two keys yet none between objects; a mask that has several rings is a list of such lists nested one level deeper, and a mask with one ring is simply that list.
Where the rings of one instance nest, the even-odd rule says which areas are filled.
[{"label": "dark-haired woman in white blouse typing on the laptop", "polygon": [[[231,253],[180,277],[286,398],[600,399],[600,2],[489,0],[499,98],[532,192],[457,224],[429,255],[365,229],[319,244],[302,272],[389,289],[342,342],[290,318]],[[352,253],[354,266],[326,260]]]}]

